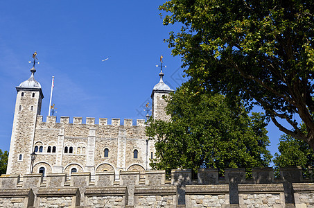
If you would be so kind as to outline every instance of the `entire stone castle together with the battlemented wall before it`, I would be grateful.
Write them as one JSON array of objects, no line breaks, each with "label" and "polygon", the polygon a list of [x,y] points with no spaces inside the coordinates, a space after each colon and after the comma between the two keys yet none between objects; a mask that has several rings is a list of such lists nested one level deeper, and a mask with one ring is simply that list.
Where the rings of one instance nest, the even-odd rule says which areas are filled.
[{"label": "entire stone castle together with the battlemented wall before it", "polygon": [[[10,155],[6,175],[0,177],[0,207],[314,207],[313,175],[302,168],[215,168],[151,170],[153,141],[146,123],[125,119],[40,115],[42,88],[31,76],[17,88]],[[152,89],[153,119],[170,119],[163,97],[173,92],[162,80]],[[37,157],[32,159],[31,154]]]}]

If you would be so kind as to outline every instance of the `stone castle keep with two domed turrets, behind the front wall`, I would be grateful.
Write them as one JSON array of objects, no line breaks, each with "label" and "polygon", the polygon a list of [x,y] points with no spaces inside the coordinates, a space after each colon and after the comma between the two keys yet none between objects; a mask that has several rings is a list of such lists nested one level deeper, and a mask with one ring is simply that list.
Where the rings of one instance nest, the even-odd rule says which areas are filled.
[{"label": "stone castle keep with two domed turrets, behind the front wall", "polygon": [[[35,64],[34,64],[35,65]],[[161,67],[162,69],[162,67]],[[31,76],[17,89],[17,100],[10,143],[7,174],[29,173],[71,173],[113,171],[119,178],[121,171],[150,170],[149,159],[155,155],[153,141],[145,133],[145,120],[107,119],[61,116],[47,116],[46,122],[40,115],[42,88],[35,80],[35,68]],[[166,101],[162,96],[173,92],[163,82],[164,73],[152,89],[152,116],[154,119],[168,119],[164,112]],[[32,161],[31,153],[35,153]]]}]

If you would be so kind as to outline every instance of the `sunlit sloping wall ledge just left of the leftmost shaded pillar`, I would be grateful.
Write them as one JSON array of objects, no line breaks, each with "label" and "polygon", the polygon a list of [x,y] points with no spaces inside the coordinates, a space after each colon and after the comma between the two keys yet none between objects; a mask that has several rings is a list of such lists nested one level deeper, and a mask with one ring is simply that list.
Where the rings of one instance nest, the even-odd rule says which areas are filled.
[{"label": "sunlit sloping wall ledge just left of the leftmost shaded pillar", "polygon": [[134,195],[177,195],[176,186],[135,186]]}]

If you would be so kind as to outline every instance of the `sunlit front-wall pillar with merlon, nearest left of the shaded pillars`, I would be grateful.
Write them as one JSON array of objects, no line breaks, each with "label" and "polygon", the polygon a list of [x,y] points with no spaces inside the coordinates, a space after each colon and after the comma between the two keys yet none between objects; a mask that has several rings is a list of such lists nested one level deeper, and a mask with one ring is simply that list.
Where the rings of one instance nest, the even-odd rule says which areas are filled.
[{"label": "sunlit front-wall pillar with merlon, nearest left of the shaded pillars", "polygon": [[121,171],[120,186],[128,188],[128,205],[134,205],[134,186],[139,184],[139,171]]}]

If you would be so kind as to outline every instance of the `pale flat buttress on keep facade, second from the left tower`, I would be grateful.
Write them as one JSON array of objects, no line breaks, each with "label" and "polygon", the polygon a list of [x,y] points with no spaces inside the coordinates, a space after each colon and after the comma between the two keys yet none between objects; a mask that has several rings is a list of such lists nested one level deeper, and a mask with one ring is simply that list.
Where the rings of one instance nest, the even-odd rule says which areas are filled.
[{"label": "pale flat buttress on keep facade, second from the left tower", "polygon": [[96,128],[89,128],[85,171],[90,172],[91,175],[95,174],[95,167],[94,167],[95,144],[96,144]]}]

